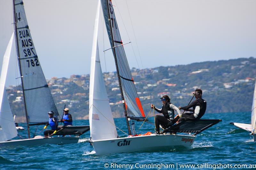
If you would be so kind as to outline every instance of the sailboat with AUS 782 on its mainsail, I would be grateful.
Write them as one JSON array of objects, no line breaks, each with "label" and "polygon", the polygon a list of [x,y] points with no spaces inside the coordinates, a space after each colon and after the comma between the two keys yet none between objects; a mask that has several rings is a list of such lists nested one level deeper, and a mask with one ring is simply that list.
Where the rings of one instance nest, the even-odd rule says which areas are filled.
[{"label": "sailboat with AUS 782 on its mainsail", "polygon": [[[36,136],[35,138],[30,138],[29,127],[32,125],[42,125],[48,122],[49,117],[47,113],[49,111],[54,112],[54,116],[60,120],[60,115],[55,106],[52,94],[47,85],[44,77],[44,73],[41,68],[41,64],[36,54],[34,43],[31,38],[30,30],[27,23],[27,18],[23,6],[22,0],[13,0],[13,18],[14,18],[14,37],[16,43],[16,52],[18,57],[19,69],[20,69],[20,79],[23,92],[23,100],[26,114],[28,139],[10,140],[11,138],[17,136],[17,130],[12,130],[11,132],[6,131],[8,128],[3,128],[6,121],[10,119],[5,119],[5,116],[12,116],[10,111],[10,106],[7,106],[7,96],[4,90],[6,72],[8,68],[9,56],[5,57],[3,62],[3,69],[1,72],[1,122],[0,129],[1,133],[12,134],[10,137],[3,137],[1,135],[0,147],[10,146],[10,145],[41,145],[41,144],[70,144],[77,143],[79,136],[84,132],[89,130],[89,126],[64,126],[57,131],[52,136],[57,135],[76,135],[76,137],[41,137]],[[12,36],[13,37],[13,36]],[[11,38],[12,41],[12,38]],[[10,42],[11,42],[10,41]],[[11,48],[11,43],[9,43],[7,50]],[[6,50],[6,51],[7,51]],[[8,62],[7,62],[8,60]],[[2,76],[3,74],[3,76]],[[2,80],[3,79],[3,80]],[[2,83],[3,82],[3,83]],[[2,94],[3,92],[3,94]],[[2,100],[3,99],[3,100]],[[7,107],[7,109],[5,108]],[[3,110],[3,111],[2,111]],[[8,111],[5,111],[8,110]],[[11,125],[10,125],[11,127]]]}]

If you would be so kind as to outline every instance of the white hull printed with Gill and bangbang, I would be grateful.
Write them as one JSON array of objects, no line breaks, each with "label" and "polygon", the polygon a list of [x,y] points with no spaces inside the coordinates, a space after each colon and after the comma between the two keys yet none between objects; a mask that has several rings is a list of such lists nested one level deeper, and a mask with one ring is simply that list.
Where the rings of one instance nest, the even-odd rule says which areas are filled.
[{"label": "white hull printed with Gill and bangbang", "polygon": [[167,151],[173,146],[189,147],[195,136],[189,135],[148,135],[124,137],[108,140],[95,140],[92,145],[96,155],[137,151]]}]

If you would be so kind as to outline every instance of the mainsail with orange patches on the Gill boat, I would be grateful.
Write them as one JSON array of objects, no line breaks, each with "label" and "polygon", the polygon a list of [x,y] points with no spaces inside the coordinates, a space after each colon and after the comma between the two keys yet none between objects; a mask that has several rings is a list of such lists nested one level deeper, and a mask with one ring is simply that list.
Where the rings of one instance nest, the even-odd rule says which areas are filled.
[{"label": "mainsail with orange patches on the Gill boat", "polygon": [[[101,0],[101,6],[112,52],[114,57],[116,57],[116,67],[119,71],[122,92],[124,95],[125,109],[128,116],[132,119],[145,117],[124,52],[124,47],[122,45],[123,42],[117,26],[112,2],[110,0]],[[108,19],[109,16],[110,20]]]}]

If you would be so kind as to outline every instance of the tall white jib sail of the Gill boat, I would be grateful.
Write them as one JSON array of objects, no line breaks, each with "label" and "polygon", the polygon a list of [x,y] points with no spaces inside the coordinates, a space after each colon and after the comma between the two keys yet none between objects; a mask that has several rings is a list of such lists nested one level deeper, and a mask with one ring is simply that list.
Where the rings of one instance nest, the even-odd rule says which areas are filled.
[{"label": "tall white jib sail of the Gill boat", "polygon": [[92,141],[117,138],[116,126],[100,66],[97,41],[99,12],[100,1],[98,3],[94,24],[90,73],[89,122]]}]

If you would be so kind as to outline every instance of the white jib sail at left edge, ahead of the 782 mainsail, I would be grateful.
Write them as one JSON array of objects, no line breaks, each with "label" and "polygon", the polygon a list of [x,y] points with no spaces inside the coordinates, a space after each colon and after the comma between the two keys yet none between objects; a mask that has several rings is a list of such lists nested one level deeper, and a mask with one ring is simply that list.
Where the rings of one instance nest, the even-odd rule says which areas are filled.
[{"label": "white jib sail at left edge, ahead of the 782 mainsail", "polygon": [[17,130],[12,117],[12,111],[9,105],[5,91],[5,80],[8,70],[8,64],[12,49],[12,37],[4,53],[3,66],[0,77],[0,142],[4,142],[17,136]]}]

